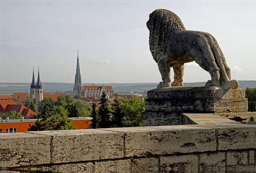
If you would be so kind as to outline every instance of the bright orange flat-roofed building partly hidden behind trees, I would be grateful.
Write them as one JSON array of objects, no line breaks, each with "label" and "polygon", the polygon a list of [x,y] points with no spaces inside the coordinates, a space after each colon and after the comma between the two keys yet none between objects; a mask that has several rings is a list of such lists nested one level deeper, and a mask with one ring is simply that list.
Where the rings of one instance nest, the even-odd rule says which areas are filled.
[{"label": "bright orange flat-roofed building partly hidden behind trees", "polygon": [[[71,124],[74,124],[77,129],[88,129],[92,124],[90,117],[71,118]],[[28,132],[29,124],[35,125],[36,119],[21,119],[21,120],[6,120],[0,119],[0,133],[20,133]]]}]

